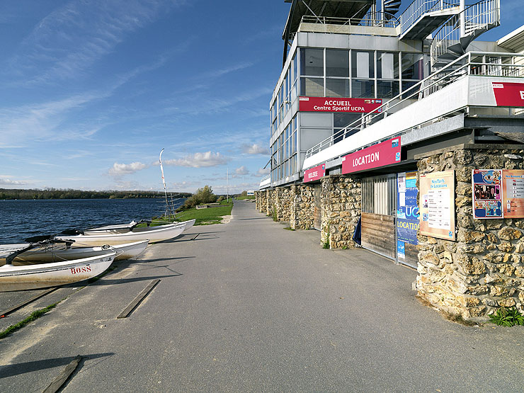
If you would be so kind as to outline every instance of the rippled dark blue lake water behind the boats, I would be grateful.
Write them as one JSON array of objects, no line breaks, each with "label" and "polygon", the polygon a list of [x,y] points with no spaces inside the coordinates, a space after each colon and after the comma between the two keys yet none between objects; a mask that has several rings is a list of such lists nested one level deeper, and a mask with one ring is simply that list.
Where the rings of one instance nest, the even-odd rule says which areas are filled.
[{"label": "rippled dark blue lake water behind the boats", "polygon": [[[183,199],[173,202],[178,207]],[[160,198],[0,200],[0,244],[22,243],[27,237],[57,234],[64,229],[150,220],[165,210],[165,200]]]}]

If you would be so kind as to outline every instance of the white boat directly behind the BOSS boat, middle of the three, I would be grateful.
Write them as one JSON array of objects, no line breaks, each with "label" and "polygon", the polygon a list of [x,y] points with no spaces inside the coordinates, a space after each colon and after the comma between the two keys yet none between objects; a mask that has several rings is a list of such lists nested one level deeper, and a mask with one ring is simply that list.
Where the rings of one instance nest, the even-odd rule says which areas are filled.
[{"label": "white boat directly behind the BOSS boat, middle of the three", "polygon": [[[91,247],[72,247],[69,242],[50,242],[35,244],[35,247],[18,254],[12,261],[13,266],[35,265],[49,262],[72,261],[74,259],[89,258],[91,256],[101,256],[111,251],[116,252],[115,261],[134,258],[142,254],[149,244],[148,240],[134,241],[127,244],[118,244],[109,246],[91,246]],[[30,244],[4,244],[0,245],[0,266],[5,263],[2,261],[2,255],[10,254],[17,249],[23,249]]]}]

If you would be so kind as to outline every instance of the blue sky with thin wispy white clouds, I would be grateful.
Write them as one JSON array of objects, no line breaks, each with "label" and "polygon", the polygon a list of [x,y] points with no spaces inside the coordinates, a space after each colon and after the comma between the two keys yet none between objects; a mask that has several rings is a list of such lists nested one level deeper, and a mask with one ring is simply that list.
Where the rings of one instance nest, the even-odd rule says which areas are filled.
[{"label": "blue sky with thin wispy white clouds", "polygon": [[[521,1],[480,39],[518,28]],[[163,190],[164,149],[169,191],[258,189],[289,8],[0,0],[0,188]]]}]

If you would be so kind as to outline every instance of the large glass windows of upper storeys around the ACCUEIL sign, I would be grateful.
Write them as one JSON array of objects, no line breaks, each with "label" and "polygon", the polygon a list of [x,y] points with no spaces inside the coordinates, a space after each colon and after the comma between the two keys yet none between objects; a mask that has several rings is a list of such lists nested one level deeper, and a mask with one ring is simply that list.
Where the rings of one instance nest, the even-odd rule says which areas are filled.
[{"label": "large glass windows of upper storeys around the ACCUEIL sign", "polygon": [[[271,146],[271,181],[300,171],[298,113],[291,119],[287,116],[299,96],[388,99],[421,79],[421,53],[297,48],[270,105],[270,134],[275,141]],[[331,116],[331,130],[336,135],[361,115],[332,113]],[[275,137],[277,133],[280,135]],[[335,142],[341,139],[337,138]]]}]

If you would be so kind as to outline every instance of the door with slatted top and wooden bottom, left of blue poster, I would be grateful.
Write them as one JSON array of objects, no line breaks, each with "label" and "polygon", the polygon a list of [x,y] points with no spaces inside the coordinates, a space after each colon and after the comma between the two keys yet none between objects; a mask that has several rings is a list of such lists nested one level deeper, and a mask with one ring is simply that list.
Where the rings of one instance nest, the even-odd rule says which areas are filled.
[{"label": "door with slatted top and wooden bottom, left of blue poster", "polygon": [[365,249],[396,259],[397,175],[362,180],[361,241]]}]

